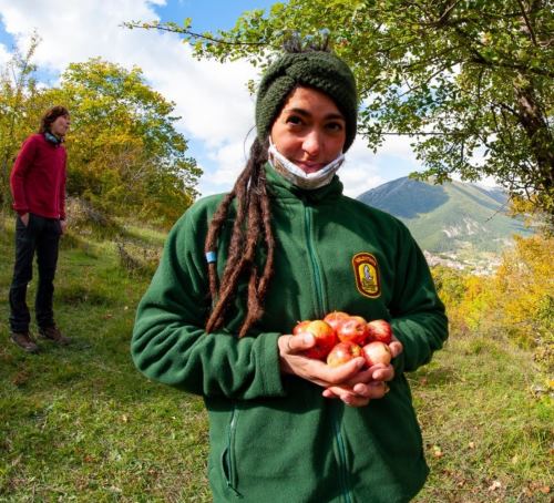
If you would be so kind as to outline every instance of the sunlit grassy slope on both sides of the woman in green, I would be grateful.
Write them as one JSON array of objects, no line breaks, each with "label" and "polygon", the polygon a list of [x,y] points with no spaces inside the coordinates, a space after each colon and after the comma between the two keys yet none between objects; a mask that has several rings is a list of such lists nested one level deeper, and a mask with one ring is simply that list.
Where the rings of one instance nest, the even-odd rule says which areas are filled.
[{"label": "sunlit grassy slope on both sides of the woman in green", "polygon": [[[8,224],[4,320],[12,237]],[[120,269],[109,243],[62,250],[55,307],[74,345],[43,343],[40,356],[0,346],[0,501],[209,501],[202,400],[148,382],[129,357],[146,285]],[[417,501],[551,501],[552,400],[530,391],[541,379],[530,353],[460,336],[411,374],[432,470]]]}]

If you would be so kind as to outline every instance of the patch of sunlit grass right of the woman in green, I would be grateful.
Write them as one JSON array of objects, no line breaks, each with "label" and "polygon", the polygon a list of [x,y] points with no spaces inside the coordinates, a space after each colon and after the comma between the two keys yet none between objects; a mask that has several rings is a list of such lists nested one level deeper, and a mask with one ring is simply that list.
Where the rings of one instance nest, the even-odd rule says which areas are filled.
[{"label": "patch of sunlit grass right of the woman in green", "polygon": [[410,376],[431,466],[417,501],[552,501],[552,394],[533,392],[545,379],[505,340],[454,333]]}]

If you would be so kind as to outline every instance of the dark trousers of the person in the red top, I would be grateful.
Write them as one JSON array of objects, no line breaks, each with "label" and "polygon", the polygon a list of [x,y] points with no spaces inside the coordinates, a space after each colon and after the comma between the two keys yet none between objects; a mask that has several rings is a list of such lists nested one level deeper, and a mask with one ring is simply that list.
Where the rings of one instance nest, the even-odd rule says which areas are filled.
[{"label": "dark trousers of the person in the red top", "polygon": [[54,275],[58,265],[61,226],[55,218],[44,218],[29,214],[25,225],[18,216],[16,223],[16,264],[10,287],[10,329],[13,332],[27,332],[31,316],[27,307],[27,286],[32,279],[33,258],[37,253],[39,284],[34,300],[37,325],[40,328],[54,326],[52,300],[54,295]]}]

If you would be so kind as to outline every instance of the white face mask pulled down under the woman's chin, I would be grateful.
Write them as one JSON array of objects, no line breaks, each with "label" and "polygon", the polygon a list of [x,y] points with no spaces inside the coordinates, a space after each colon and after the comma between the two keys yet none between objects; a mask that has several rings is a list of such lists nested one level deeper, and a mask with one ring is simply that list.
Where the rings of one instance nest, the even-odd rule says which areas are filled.
[{"label": "white face mask pulled down under the woman's chin", "polygon": [[269,164],[277,173],[297,187],[305,188],[307,191],[314,191],[328,185],[335,173],[337,173],[338,168],[345,162],[345,154],[341,153],[335,161],[331,161],[316,173],[305,173],[304,170],[298,167],[277,150],[275,144],[271,142],[271,138],[269,138],[269,148],[267,153],[269,154]]}]

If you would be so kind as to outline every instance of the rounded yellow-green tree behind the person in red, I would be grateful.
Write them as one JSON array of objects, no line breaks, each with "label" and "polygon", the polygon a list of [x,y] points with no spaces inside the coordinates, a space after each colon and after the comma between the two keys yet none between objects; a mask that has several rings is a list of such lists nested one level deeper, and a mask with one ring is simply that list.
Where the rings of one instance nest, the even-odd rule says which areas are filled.
[{"label": "rounded yellow-green tree behind the person in red", "polygon": [[50,96],[71,112],[70,194],[167,224],[192,204],[202,172],[175,130],[174,103],[152,90],[138,68],[101,59],[72,63]]}]

